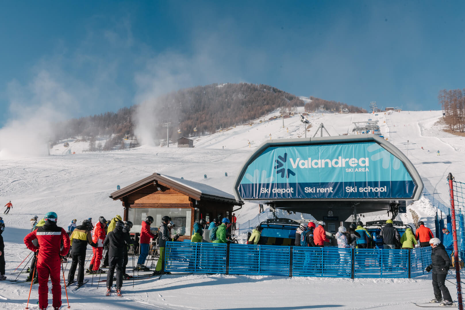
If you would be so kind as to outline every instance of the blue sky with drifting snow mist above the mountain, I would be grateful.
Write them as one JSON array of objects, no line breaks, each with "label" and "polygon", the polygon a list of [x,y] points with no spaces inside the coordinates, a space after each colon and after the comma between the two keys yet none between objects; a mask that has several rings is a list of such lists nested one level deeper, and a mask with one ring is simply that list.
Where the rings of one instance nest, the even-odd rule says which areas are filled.
[{"label": "blue sky with drifting snow mist above the mountain", "polygon": [[463,1],[3,1],[0,127],[179,88],[263,83],[368,107],[438,109],[464,88]]}]

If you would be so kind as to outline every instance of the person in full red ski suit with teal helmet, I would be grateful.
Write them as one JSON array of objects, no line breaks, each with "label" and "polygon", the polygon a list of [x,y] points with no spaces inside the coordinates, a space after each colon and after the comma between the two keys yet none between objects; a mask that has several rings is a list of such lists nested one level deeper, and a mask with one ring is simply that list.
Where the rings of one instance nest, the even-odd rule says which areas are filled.
[{"label": "person in full red ski suit with teal helmet", "polygon": [[[24,237],[24,244],[31,251],[39,251],[36,260],[36,273],[39,275],[39,309],[48,306],[48,277],[52,281],[53,309],[61,307],[60,286],[60,256],[66,256],[69,251],[69,237],[66,231],[57,226],[57,214],[48,212],[45,215],[45,224]],[[39,247],[32,241],[37,239]],[[63,240],[63,248],[60,248]]]}]

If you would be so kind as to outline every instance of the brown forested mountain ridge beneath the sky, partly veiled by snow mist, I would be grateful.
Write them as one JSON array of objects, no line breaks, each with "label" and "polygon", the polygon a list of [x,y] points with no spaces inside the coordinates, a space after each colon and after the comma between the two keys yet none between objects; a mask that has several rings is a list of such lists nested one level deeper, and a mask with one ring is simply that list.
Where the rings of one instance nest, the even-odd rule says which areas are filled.
[{"label": "brown forested mountain ridge beneath the sky, partly veiled by snow mist", "polygon": [[[69,137],[82,137],[92,142],[96,137],[108,137],[103,150],[119,148],[127,135],[134,139],[131,145],[136,147],[138,129],[141,124],[153,132],[155,139],[166,138],[164,123],[172,123],[170,138],[193,134],[213,133],[219,128],[245,124],[253,119],[272,112],[278,108],[291,111],[293,107],[306,106],[307,111],[315,110],[326,104],[327,110],[332,106],[343,105],[349,110],[359,110],[340,102],[312,98],[313,102],[304,102],[288,92],[263,84],[211,84],[196,86],[170,92],[156,99],[147,100],[140,105],[121,108],[118,112],[106,112],[99,115],[68,119],[54,124],[55,141]],[[145,121],[141,121],[145,119]],[[139,126],[139,127],[138,127]],[[178,134],[178,130],[181,132]]]}]

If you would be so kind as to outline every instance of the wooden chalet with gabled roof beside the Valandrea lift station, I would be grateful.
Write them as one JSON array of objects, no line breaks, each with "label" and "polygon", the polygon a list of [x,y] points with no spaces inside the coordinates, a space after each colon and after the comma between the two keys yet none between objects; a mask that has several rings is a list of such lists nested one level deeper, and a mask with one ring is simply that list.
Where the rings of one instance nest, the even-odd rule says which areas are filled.
[{"label": "wooden chalet with gabled roof beside the Valandrea lift station", "polygon": [[[152,216],[152,228],[159,227],[161,218],[169,216],[179,239],[190,239],[193,224],[200,218],[232,219],[233,211],[244,202],[210,185],[153,173],[110,195],[123,203],[125,221],[133,222],[132,232],[140,232],[142,221]],[[238,208],[236,208],[238,206]]]}]

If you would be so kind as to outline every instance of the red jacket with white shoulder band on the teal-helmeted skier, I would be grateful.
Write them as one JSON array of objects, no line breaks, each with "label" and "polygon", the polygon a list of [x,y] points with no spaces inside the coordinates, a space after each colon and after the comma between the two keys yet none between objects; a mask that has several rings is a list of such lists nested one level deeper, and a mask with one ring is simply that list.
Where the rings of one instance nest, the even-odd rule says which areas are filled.
[{"label": "red jacket with white shoulder band on the teal-helmeted skier", "polygon": [[[34,239],[37,239],[39,247],[32,243]],[[61,240],[63,240],[63,249],[60,250]],[[63,228],[50,221],[46,221],[43,226],[28,233],[24,237],[24,244],[31,251],[39,249],[39,254],[37,255],[39,262],[46,261],[47,259],[56,259],[59,255],[65,256],[69,251],[68,234]]]}]

